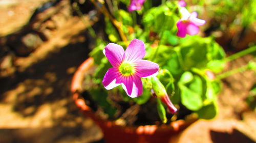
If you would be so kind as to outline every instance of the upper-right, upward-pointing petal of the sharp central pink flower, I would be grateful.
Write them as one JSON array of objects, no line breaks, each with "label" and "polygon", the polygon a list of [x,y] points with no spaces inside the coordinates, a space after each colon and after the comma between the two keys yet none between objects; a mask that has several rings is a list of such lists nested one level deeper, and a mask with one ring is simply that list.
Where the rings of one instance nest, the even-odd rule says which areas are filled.
[{"label": "upper-right, upward-pointing petal of the sharp central pink flower", "polygon": [[145,44],[139,39],[133,39],[125,50],[125,60],[134,62],[142,59],[146,54]]}]

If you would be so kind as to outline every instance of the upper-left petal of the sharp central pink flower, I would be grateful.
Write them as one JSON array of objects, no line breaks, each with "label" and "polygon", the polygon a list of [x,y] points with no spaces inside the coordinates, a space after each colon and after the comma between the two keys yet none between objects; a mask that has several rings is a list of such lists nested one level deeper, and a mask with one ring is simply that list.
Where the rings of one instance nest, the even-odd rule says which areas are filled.
[{"label": "upper-left petal of the sharp central pink flower", "polygon": [[103,53],[113,67],[118,67],[123,61],[124,50],[123,47],[118,44],[109,43],[103,49]]}]

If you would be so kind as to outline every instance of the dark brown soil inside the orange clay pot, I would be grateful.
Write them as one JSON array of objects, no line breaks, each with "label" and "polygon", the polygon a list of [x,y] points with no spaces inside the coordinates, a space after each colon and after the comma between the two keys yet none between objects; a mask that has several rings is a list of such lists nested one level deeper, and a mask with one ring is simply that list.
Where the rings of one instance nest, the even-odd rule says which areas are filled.
[{"label": "dark brown soil inside the orange clay pot", "polygon": [[[88,76],[84,76],[88,77]],[[91,86],[93,81],[90,81]],[[90,86],[90,85],[89,85]],[[92,87],[87,88],[91,89]],[[122,126],[126,125],[161,125],[161,119],[158,116],[157,111],[157,103],[155,97],[150,97],[145,104],[137,104],[135,101],[123,101],[122,95],[120,93],[109,93],[109,101],[112,107],[115,109],[115,115],[109,116],[105,113],[104,107],[101,107],[97,104],[97,101],[92,98],[92,95],[84,91],[82,92],[81,96],[86,100],[86,104],[90,106],[94,112],[97,113],[99,117],[105,120],[110,121],[118,121],[117,124]],[[190,115],[191,111],[186,109],[184,106],[181,106],[183,112],[175,115],[175,119],[184,119],[187,115]],[[171,119],[173,115],[167,110],[166,117]],[[175,121],[175,120],[173,120]],[[166,124],[172,122],[168,120]]]}]

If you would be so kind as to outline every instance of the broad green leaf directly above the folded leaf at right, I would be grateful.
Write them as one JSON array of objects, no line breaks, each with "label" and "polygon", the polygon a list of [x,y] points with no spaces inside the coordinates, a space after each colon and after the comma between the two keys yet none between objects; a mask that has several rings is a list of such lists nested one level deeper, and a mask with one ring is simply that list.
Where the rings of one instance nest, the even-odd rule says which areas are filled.
[{"label": "broad green leaf directly above the folded leaf at right", "polygon": [[[210,61],[221,61],[225,56],[222,47],[214,39],[199,36],[188,36],[182,39],[180,54],[185,70],[190,70],[191,68],[206,69]],[[214,65],[209,66],[210,68],[214,67]]]}]

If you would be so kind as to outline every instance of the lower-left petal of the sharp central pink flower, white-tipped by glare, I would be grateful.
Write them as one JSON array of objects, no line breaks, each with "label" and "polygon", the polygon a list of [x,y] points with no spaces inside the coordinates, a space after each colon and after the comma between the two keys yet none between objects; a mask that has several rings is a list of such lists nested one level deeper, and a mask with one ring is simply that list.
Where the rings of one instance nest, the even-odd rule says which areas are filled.
[{"label": "lower-left petal of the sharp central pink flower, white-tipped by glare", "polygon": [[106,74],[103,77],[102,83],[105,87],[106,90],[111,90],[115,87],[117,87],[118,85],[120,85],[120,83],[116,82],[116,78],[119,76],[119,71],[117,68],[110,68]]}]

